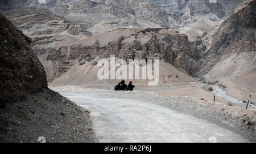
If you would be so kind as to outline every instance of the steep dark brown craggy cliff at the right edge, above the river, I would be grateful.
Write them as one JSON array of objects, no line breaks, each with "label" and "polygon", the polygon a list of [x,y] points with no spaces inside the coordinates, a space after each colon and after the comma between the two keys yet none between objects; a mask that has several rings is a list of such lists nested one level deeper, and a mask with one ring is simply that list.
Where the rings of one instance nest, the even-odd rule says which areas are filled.
[{"label": "steep dark brown craggy cliff at the right edge, above the river", "polygon": [[226,19],[212,36],[206,36],[204,58],[197,75],[204,75],[221,59],[233,53],[255,51],[256,1]]}]

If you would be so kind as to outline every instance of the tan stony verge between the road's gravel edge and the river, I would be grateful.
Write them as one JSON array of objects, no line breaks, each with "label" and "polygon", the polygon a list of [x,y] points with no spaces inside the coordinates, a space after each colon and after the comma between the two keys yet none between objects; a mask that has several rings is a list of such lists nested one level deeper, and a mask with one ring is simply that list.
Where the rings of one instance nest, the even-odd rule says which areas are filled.
[{"label": "tan stony verge between the road's gravel edge and the river", "polygon": [[255,131],[256,110],[249,106],[249,110],[245,109],[245,104],[234,104],[226,100],[224,97],[216,96],[216,101],[213,101],[213,93],[208,91],[207,84],[196,84],[181,87],[172,87],[169,89],[146,90],[158,93],[160,96],[170,97],[180,100],[181,102],[190,102],[200,110],[214,112],[216,118],[235,122],[235,125]]}]

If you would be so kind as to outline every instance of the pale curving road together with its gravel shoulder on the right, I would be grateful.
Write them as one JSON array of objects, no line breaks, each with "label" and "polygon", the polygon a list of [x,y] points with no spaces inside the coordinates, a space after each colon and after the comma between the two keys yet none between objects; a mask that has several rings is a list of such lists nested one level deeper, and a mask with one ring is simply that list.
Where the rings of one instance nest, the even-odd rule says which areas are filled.
[{"label": "pale curving road together with its gravel shoulder on the right", "polygon": [[[75,86],[50,88],[90,109],[97,142],[256,141],[255,132],[241,125],[241,121],[250,120],[250,117],[236,119],[225,113],[229,108],[220,102],[183,96],[163,97],[155,92]],[[223,107],[220,111],[216,106]],[[242,114],[251,112],[254,113]]]}]

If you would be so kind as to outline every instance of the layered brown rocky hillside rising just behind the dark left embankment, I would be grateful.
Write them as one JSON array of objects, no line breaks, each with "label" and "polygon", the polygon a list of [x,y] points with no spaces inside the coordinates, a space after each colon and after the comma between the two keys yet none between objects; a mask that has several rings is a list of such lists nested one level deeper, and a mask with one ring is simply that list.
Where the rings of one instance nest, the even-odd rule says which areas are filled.
[{"label": "layered brown rocky hillside rising just behind the dark left embankment", "polygon": [[[79,41],[80,38],[92,36],[90,32],[85,30],[84,25],[74,25],[46,9],[17,8],[6,11],[5,14],[12,19],[16,27],[31,37],[31,48],[38,55],[40,61],[47,57],[39,55],[52,54],[61,46],[68,46]],[[45,68],[52,66],[51,63],[43,63],[43,65]],[[58,76],[56,67],[47,69],[46,73],[52,78]]]}]

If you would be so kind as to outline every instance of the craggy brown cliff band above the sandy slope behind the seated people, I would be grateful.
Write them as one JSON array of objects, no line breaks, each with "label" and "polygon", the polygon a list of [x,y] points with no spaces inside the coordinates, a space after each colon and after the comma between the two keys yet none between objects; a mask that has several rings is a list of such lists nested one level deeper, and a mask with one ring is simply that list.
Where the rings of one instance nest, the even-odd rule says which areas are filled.
[{"label": "craggy brown cliff band above the sandy slope behind the seated people", "polygon": [[51,52],[44,52],[38,48],[34,50],[38,57],[42,57],[40,60],[46,70],[55,70],[48,74],[49,80],[59,77],[77,63],[94,63],[96,57],[115,55],[126,60],[164,59],[188,74],[193,73],[193,66],[201,58],[201,50],[189,42],[187,36],[162,28],[117,29],[77,41],[69,46],[63,45],[52,49]]}]

